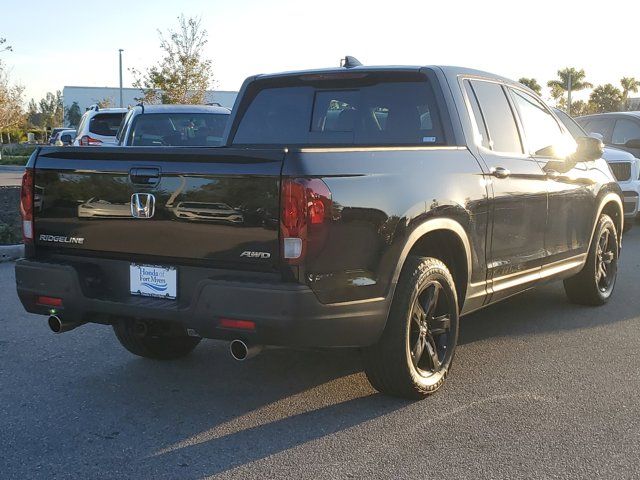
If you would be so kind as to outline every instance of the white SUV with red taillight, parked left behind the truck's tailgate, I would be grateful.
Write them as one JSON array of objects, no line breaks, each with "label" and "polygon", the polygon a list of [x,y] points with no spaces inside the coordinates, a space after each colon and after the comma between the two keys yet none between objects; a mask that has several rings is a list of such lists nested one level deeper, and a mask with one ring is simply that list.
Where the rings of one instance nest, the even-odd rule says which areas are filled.
[{"label": "white SUV with red taillight, parked left behind the truck's tailgate", "polygon": [[126,108],[91,106],[82,115],[78,135],[73,144],[80,147],[116,145],[116,133],[127,111]]}]

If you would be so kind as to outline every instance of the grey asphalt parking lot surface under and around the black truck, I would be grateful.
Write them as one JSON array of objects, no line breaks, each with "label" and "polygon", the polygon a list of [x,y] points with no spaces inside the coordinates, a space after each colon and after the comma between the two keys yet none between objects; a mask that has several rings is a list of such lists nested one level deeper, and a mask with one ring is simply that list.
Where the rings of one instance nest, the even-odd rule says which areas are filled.
[{"label": "grey asphalt parking lot surface under and around the black truck", "polygon": [[357,352],[226,344],[153,362],[111,330],[54,336],[0,264],[0,476],[26,478],[638,478],[640,226],[611,302],[555,283],[462,321],[444,389],[368,385]]}]

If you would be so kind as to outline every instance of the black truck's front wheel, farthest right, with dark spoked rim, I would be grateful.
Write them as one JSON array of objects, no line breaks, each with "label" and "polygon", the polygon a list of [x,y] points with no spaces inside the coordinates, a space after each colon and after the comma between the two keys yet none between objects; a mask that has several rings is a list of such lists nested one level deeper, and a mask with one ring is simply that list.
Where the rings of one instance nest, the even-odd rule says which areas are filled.
[{"label": "black truck's front wheel, farthest right, with dark spoked rim", "polygon": [[618,233],[609,215],[602,214],[591,240],[587,262],[564,281],[564,290],[573,303],[604,305],[609,301],[618,275]]}]

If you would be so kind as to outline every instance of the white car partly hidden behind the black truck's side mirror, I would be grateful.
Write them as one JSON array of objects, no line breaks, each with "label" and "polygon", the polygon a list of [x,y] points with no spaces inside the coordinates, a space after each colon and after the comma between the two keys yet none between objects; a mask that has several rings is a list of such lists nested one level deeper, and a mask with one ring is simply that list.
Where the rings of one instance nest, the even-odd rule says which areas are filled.
[{"label": "white car partly hidden behind the black truck's side mirror", "polygon": [[[565,112],[557,108],[553,110],[574,138],[588,135],[587,132]],[[594,133],[599,135],[598,138],[603,138],[600,132]],[[638,202],[640,198],[640,159],[635,158],[625,150],[611,146],[605,147],[602,158],[604,158],[611,167],[613,174],[618,180],[618,185],[620,185],[622,189],[624,196],[624,216],[627,219],[624,224],[625,231],[629,230],[633,225],[633,219],[638,217],[638,209],[640,208],[640,202]]]}]

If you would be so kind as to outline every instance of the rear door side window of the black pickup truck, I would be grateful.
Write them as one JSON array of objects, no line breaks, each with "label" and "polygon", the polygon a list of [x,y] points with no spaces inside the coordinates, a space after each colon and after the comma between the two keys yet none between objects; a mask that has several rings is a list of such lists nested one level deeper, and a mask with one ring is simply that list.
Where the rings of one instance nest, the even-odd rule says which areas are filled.
[{"label": "rear door side window of the black pickup truck", "polygon": [[476,80],[471,84],[487,126],[492,150],[522,153],[518,127],[502,87],[497,83]]}]

